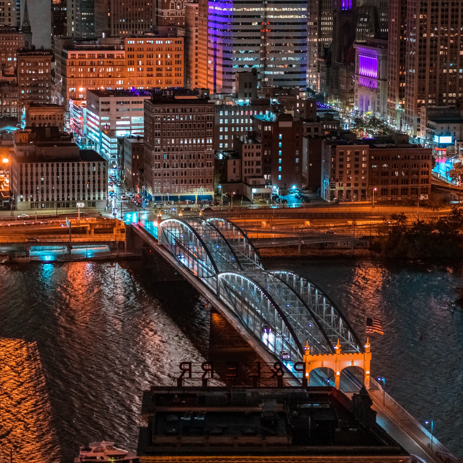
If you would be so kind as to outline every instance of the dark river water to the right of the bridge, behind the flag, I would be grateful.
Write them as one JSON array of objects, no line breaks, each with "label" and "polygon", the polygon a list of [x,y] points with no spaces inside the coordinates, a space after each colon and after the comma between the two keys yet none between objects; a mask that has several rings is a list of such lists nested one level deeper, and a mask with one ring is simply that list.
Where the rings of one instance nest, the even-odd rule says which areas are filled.
[{"label": "dark river water to the right of the bridge, behind the flag", "polygon": [[462,268],[368,259],[269,259],[265,264],[319,285],[360,340],[366,315],[381,319],[384,336],[370,336],[373,377],[385,376],[388,393],[419,422],[432,418],[437,438],[463,457],[463,369],[456,363],[463,351],[463,311],[452,308],[453,288],[463,286]]}]

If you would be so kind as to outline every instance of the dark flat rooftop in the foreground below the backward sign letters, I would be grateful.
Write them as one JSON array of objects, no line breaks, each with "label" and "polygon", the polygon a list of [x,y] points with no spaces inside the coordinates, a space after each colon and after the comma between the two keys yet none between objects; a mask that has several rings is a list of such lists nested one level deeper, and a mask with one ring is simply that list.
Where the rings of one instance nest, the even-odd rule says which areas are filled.
[{"label": "dark flat rooftop in the foreground below the backward sign letters", "polygon": [[152,387],[143,395],[148,426],[140,428],[138,455],[407,458],[376,424],[371,404],[364,388],[350,400],[329,386]]}]

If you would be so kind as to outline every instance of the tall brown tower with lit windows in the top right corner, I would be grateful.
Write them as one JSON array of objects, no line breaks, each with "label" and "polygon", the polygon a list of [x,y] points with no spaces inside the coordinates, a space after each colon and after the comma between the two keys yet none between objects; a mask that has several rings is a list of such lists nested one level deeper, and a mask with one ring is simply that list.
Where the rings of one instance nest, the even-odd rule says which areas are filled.
[{"label": "tall brown tower with lit windows in the top right corner", "polygon": [[[401,130],[424,137],[422,106],[460,105],[463,78],[463,37],[458,2],[407,2],[405,113]],[[422,133],[423,132],[423,133]]]}]

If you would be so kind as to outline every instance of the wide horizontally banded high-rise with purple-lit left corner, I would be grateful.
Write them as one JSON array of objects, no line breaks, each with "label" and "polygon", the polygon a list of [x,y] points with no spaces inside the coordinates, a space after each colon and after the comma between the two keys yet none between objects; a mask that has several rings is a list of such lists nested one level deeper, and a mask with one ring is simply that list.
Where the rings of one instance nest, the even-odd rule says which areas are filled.
[{"label": "wide horizontally banded high-rise with purple-lit left corner", "polygon": [[257,69],[261,85],[306,88],[307,1],[200,0],[199,16],[211,92],[232,93],[245,68]]}]

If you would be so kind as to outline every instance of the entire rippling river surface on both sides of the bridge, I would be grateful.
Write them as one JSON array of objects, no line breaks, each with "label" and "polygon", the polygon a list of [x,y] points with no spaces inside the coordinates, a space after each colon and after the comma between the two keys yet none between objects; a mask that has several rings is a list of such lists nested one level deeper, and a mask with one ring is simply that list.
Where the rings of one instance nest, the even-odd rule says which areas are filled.
[{"label": "entire rippling river surface on both sides of the bridge", "polygon": [[[362,339],[372,373],[463,457],[462,268],[373,260],[267,261],[330,295]],[[204,361],[205,301],[184,282],[152,283],[139,262],[0,266],[0,450],[15,462],[71,462],[78,444],[135,450],[142,391],[169,384],[178,363]]]}]

